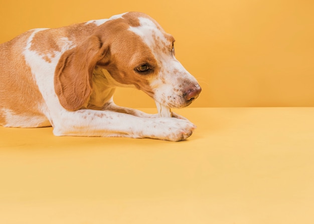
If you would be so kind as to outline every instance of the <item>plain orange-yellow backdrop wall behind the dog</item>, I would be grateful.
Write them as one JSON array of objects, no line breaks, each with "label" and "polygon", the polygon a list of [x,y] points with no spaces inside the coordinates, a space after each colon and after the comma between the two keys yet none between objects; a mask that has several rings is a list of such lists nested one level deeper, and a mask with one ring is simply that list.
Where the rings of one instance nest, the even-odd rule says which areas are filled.
[{"label": "plain orange-yellow backdrop wall behind the dog", "polygon": [[[128,11],[147,13],[175,36],[177,58],[203,88],[191,107],[314,106],[309,0],[2,1],[0,43]],[[119,89],[115,101],[154,107],[135,89]]]}]

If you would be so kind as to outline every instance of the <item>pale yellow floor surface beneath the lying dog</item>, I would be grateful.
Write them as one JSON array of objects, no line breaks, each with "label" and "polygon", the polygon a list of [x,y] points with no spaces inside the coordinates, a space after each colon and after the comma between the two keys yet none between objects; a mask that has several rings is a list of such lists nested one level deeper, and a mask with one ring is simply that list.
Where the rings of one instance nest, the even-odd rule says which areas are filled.
[{"label": "pale yellow floor surface beneath the lying dog", "polygon": [[187,141],[0,127],[0,223],[314,223],[314,108],[177,112]]}]

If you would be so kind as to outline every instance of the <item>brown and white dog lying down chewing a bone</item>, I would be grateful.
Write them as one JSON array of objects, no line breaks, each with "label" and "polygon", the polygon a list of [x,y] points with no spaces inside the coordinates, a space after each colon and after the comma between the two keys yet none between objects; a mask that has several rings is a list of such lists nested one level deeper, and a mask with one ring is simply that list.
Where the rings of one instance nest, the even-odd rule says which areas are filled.
[{"label": "brown and white dog lying down chewing a bone", "polygon": [[135,87],[169,108],[191,104],[196,79],[175,58],[173,36],[142,13],[34,29],[0,45],[0,125],[53,126],[55,135],[179,141],[196,128],[113,103]]}]

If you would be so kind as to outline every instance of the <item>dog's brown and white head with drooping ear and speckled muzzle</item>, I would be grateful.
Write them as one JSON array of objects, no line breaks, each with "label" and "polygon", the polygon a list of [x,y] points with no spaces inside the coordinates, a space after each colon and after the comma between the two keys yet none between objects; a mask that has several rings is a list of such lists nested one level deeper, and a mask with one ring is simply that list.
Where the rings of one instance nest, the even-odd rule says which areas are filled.
[{"label": "dog's brown and white head with drooping ear and speckled muzzle", "polygon": [[[171,108],[190,105],[201,87],[175,58],[174,42],[145,14],[109,19],[59,60],[55,90],[62,106],[80,109],[90,99],[95,85],[92,77],[99,69],[108,71],[113,79],[110,85],[134,86]],[[104,85],[107,79],[104,75]]]}]

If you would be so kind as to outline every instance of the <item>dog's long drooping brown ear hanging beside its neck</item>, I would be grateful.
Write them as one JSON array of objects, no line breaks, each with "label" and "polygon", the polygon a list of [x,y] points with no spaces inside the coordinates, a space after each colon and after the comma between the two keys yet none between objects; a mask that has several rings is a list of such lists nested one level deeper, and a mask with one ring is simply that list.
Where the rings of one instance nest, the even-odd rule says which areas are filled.
[{"label": "dog's long drooping brown ear hanging beside its neck", "polygon": [[61,56],[54,77],[61,105],[70,111],[80,109],[92,93],[92,75],[98,62],[105,64],[109,47],[100,37],[91,36]]}]

